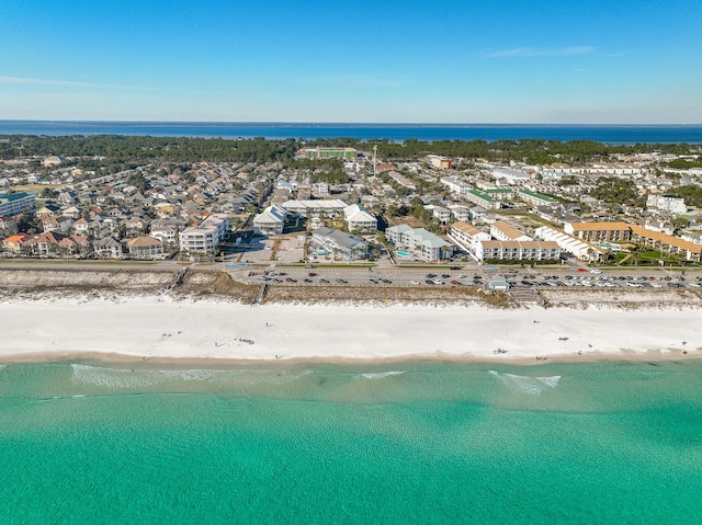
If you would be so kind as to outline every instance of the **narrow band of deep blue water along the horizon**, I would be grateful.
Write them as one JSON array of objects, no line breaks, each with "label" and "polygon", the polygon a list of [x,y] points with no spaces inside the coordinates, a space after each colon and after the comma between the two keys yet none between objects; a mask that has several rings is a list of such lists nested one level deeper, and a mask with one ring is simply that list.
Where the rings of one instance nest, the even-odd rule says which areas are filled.
[{"label": "narrow band of deep blue water along the horizon", "polygon": [[0,135],[132,135],[268,139],[595,140],[608,144],[702,142],[702,125],[315,124],[0,121]]}]

